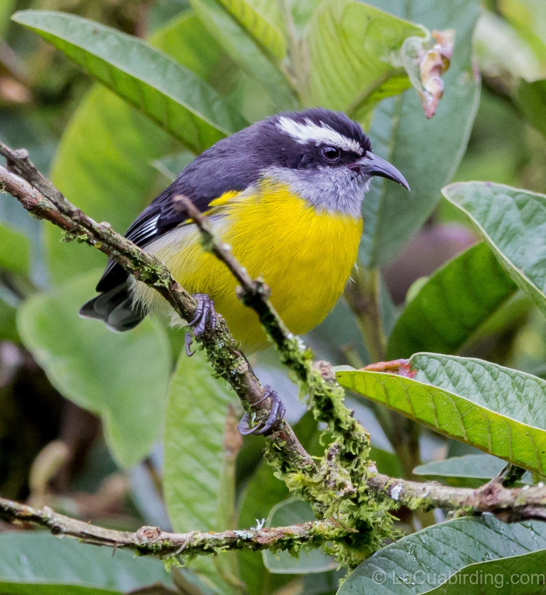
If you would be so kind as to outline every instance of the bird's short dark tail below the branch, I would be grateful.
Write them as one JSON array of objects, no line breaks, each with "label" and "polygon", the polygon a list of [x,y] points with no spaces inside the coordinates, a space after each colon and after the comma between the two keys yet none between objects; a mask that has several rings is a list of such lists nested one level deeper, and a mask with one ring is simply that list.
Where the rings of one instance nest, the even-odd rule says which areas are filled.
[{"label": "bird's short dark tail below the branch", "polygon": [[122,283],[93,297],[80,308],[83,318],[98,318],[115,331],[128,331],[146,316],[145,310],[133,302],[130,282]]}]

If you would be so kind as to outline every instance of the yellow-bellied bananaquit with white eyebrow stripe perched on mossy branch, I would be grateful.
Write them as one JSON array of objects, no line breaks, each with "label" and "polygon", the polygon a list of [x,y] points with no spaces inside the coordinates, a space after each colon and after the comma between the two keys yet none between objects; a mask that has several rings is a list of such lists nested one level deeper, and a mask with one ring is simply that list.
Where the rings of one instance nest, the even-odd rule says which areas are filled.
[{"label": "yellow-bellied bananaquit with white eyebrow stripe perched on mossy branch", "polygon": [[[199,231],[175,208],[174,196],[187,196],[208,215],[249,274],[262,275],[271,287],[271,302],[288,328],[302,334],[324,319],[347,283],[372,176],[409,189],[345,114],[314,108],[274,115],[199,155],[125,236],[197,294],[199,316],[189,323],[196,324],[194,334],[214,324],[215,306],[243,349],[253,352],[267,345],[258,316],[237,299],[237,282],[227,267],[203,252]],[[80,314],[117,331],[135,327],[148,312],[169,313],[155,290],[115,262],[109,262],[96,289],[101,295],[85,303]]]}]

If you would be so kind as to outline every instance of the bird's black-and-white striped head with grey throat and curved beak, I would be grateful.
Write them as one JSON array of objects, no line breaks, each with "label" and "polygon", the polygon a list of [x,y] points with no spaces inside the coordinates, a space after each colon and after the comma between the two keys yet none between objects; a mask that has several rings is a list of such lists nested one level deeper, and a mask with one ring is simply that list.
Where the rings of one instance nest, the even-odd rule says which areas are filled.
[{"label": "bird's black-and-white striped head with grey throat and curved beak", "polygon": [[[360,215],[373,176],[409,190],[404,176],[372,153],[360,124],[343,112],[313,108],[267,118],[257,127],[262,175],[287,183],[315,208]],[[252,129],[252,127],[251,127]]]}]

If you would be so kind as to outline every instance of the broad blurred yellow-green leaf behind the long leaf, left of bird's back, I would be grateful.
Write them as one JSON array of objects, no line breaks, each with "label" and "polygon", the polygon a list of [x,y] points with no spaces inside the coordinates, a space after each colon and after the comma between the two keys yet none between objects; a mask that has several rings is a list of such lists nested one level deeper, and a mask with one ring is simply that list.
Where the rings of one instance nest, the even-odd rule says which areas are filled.
[{"label": "broad blurred yellow-green leaf behind the long leaf, left of bird's back", "polygon": [[[150,42],[203,79],[214,79],[221,60],[218,43],[190,13],[161,30]],[[155,159],[174,150],[172,137],[123,99],[97,86],[83,99],[64,131],[51,177],[84,212],[125,230],[153,198]],[[61,234],[46,226],[49,270],[61,282],[83,270],[105,264],[98,250],[59,242]]]}]

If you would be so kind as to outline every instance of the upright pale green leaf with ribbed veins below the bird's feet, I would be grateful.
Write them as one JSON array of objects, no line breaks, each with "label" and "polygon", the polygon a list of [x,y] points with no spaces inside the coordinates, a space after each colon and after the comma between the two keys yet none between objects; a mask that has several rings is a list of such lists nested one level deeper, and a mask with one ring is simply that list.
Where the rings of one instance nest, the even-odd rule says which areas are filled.
[{"label": "upright pale green leaf with ribbed veins below the bird's feet", "polygon": [[[202,351],[192,358],[181,353],[171,378],[164,435],[164,497],[174,531],[230,528],[219,525],[225,522],[224,433],[232,400],[227,383],[214,378]],[[211,557],[193,560],[190,568],[222,592],[230,591]]]}]

